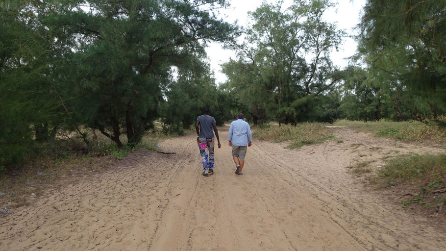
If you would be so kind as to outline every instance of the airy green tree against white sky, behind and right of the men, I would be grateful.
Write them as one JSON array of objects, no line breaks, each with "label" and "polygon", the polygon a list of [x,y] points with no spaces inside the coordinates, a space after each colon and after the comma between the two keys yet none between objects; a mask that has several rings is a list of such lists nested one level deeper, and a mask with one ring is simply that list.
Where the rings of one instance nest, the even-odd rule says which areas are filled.
[{"label": "airy green tree against white sky, behind and right of the men", "polygon": [[224,88],[254,124],[337,118],[338,102],[321,97],[341,79],[329,51],[338,47],[343,32],[322,18],[331,6],[328,0],[295,0],[284,10],[281,2],[264,2],[249,13],[253,25],[246,43],[232,46],[238,59],[223,64],[223,73],[229,79]]}]

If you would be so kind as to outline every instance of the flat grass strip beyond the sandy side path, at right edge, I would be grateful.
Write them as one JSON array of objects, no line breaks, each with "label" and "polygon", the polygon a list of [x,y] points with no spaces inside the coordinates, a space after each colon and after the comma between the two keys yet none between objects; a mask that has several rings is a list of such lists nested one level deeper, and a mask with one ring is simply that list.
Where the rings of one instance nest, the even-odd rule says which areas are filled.
[{"label": "flat grass strip beyond the sandy side path, at right edge", "polygon": [[374,122],[338,120],[335,126],[348,126],[357,131],[365,131],[377,137],[394,138],[404,142],[435,142],[446,146],[446,129],[436,124],[426,125],[418,121],[394,122],[380,120]]}]

